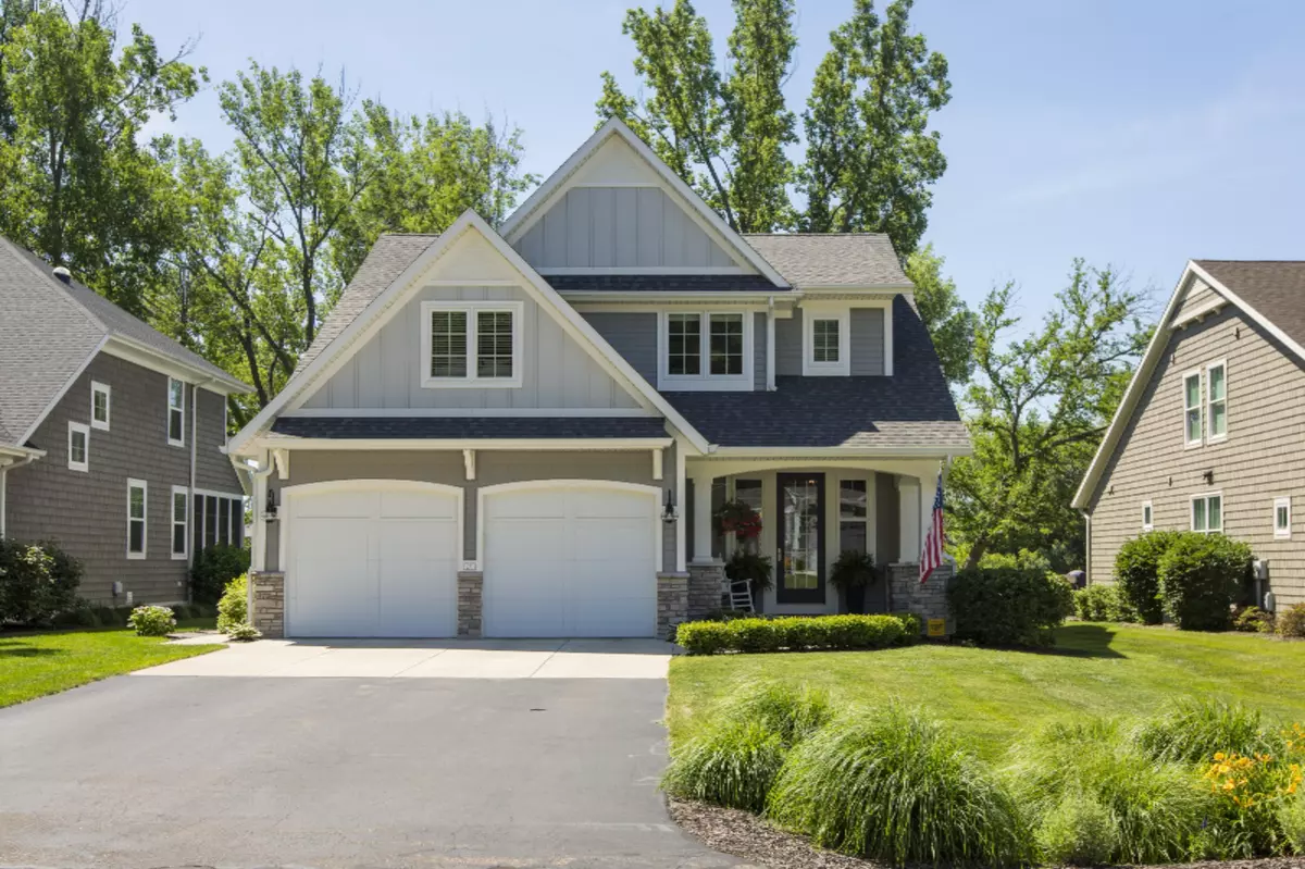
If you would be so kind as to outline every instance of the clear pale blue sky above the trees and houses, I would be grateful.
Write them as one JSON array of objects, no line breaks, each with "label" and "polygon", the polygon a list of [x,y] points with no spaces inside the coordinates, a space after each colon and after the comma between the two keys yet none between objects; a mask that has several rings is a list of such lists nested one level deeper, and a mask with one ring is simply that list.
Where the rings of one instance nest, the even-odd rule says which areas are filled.
[{"label": "clear pale blue sky above the trees and houses", "polygon": [[[405,112],[506,115],[526,168],[547,175],[591,132],[599,73],[633,85],[628,5],[127,0],[121,18],[164,51],[200,37],[193,59],[214,82],[253,57],[343,69]],[[790,107],[851,5],[797,0]],[[723,59],[728,0],[697,8]],[[919,0],[914,21],[953,82],[925,240],[968,300],[1015,279],[1040,316],[1074,256],[1160,294],[1189,257],[1305,258],[1305,3]],[[176,132],[230,145],[211,89]]]}]

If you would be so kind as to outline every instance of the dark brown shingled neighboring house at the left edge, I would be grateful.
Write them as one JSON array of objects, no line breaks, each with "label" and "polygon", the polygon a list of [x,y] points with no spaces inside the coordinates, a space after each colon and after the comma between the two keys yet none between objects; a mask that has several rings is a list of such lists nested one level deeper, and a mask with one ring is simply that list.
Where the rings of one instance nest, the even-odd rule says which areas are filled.
[{"label": "dark brown shingled neighboring house at the left edge", "polygon": [[57,543],[97,603],[179,603],[240,544],[239,380],[0,239],[0,536]]}]

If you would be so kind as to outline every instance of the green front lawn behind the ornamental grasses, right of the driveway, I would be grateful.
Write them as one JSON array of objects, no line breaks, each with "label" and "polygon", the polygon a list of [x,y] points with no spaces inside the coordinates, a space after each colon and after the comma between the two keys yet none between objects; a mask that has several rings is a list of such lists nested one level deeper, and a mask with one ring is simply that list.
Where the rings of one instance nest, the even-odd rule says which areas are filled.
[{"label": "green front lawn behind the ornamental grasses, right of the driveway", "polygon": [[671,662],[668,725],[683,739],[746,680],[808,682],[867,705],[923,706],[994,758],[1028,728],[1081,715],[1137,715],[1178,694],[1242,701],[1305,720],[1305,642],[1257,634],[1070,624],[1047,652],[912,646],[869,652],[719,655]]}]

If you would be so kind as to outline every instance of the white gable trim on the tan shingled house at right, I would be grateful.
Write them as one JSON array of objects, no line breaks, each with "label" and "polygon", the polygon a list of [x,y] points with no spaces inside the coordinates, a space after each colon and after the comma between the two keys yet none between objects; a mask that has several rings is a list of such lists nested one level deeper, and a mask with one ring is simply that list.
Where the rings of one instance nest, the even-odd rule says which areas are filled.
[{"label": "white gable trim on the tan shingled house at right", "polygon": [[[1083,481],[1079,484],[1078,492],[1074,493],[1071,506],[1075,509],[1087,509],[1092,496],[1096,493],[1096,488],[1101,483],[1101,474],[1105,471],[1105,465],[1109,457],[1114,453],[1114,449],[1118,446],[1120,438],[1124,437],[1124,429],[1128,428],[1129,420],[1133,419],[1138,402],[1142,401],[1142,393],[1146,391],[1147,384],[1151,382],[1151,376],[1155,373],[1155,368],[1164,354],[1164,348],[1169,344],[1169,335],[1172,335],[1176,329],[1181,329],[1191,322],[1191,318],[1188,318],[1184,322],[1177,322],[1176,314],[1182,304],[1182,300],[1186,299],[1188,292],[1191,290],[1193,278],[1203,281],[1211,290],[1223,296],[1228,304],[1236,305],[1242,314],[1253,320],[1274,338],[1283,342],[1283,346],[1305,361],[1305,347],[1270,322],[1265,314],[1242,301],[1237,294],[1225,287],[1220,281],[1215,279],[1215,277],[1208,271],[1191,260],[1188,260],[1188,266],[1182,270],[1182,277],[1178,278],[1178,283],[1173,288],[1173,295],[1169,296],[1169,303],[1165,305],[1164,313],[1160,316],[1160,322],[1156,324],[1155,334],[1151,337],[1151,343],[1147,344],[1142,361],[1138,364],[1137,371],[1133,372],[1133,380],[1129,382],[1129,388],[1124,393],[1124,399],[1120,402],[1120,407],[1114,411],[1114,418],[1111,420],[1109,428],[1105,429],[1105,437],[1101,438],[1101,445],[1096,448],[1096,455],[1092,457],[1092,463],[1087,466],[1087,474],[1083,475]],[[1221,304],[1219,307],[1221,307]],[[1207,305],[1201,309],[1201,314],[1210,316],[1210,313],[1214,312],[1211,308],[1216,309],[1215,305]]]}]

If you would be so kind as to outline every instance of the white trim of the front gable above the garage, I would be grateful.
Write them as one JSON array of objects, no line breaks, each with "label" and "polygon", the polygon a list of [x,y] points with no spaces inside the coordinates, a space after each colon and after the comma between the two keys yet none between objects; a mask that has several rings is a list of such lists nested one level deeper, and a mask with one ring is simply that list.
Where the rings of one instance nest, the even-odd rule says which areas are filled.
[{"label": "white trim of the front gable above the garage", "polygon": [[[227,451],[243,454],[253,449],[254,438],[260,432],[270,427],[271,421],[284,410],[294,410],[307,399],[307,389],[318,380],[329,378],[338,371],[359,347],[363,339],[373,335],[399,311],[399,301],[410,296],[419,287],[423,274],[425,274],[454,244],[467,232],[475,231],[493,247],[500,256],[521,275],[521,287],[539,303],[540,308],[548,312],[557,324],[581,347],[589,351],[590,356],[608,374],[621,382],[632,395],[639,399],[643,406],[651,406],[659,411],[675,428],[701,453],[709,451],[709,442],[694,429],[684,416],[676,411],[633,367],[617,354],[611,344],[586,321],[574,308],[566,304],[539,274],[521,258],[504,239],[495,232],[484,219],[472,210],[462,213],[453,226],[440,236],[436,244],[427,248],[403,273],[395,278],[376,299],[359,313],[348,326],[338,334],[322,352],[317,355],[299,374],[292,377],[284,389],[264,407],[257,416],[240,429],[231,438]],[[468,283],[463,281],[463,283]]]}]

